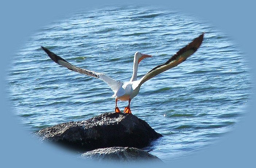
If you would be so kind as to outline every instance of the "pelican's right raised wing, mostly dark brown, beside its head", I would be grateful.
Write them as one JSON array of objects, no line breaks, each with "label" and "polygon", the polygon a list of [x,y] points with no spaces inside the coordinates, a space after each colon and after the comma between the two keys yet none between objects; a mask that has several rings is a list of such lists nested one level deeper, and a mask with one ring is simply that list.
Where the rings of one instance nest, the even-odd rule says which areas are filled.
[{"label": "pelican's right raised wing, mostly dark brown, beside its head", "polygon": [[148,73],[140,79],[139,85],[142,85],[142,83],[146,82],[147,80],[185,61],[190,55],[197,51],[197,49],[201,45],[203,41],[203,34],[204,33],[202,33],[199,37],[195,38],[191,43],[187,44],[187,46],[181,48],[181,50],[174,54],[166,63],[158,65],[152,70],[148,71]]}]

